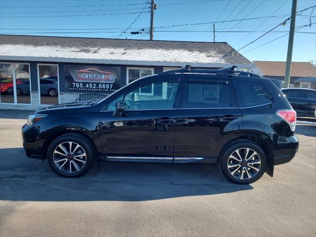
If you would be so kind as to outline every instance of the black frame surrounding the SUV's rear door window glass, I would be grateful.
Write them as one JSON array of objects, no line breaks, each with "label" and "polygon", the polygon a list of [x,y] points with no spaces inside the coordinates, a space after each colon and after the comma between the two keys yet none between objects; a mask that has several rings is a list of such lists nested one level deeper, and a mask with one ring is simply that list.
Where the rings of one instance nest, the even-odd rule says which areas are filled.
[{"label": "black frame surrounding the SUV's rear door window glass", "polygon": [[[192,76],[192,75],[190,75],[190,76]],[[209,83],[209,84],[227,84],[232,92],[234,106],[233,107],[184,108],[183,107],[184,99],[185,99],[185,96],[187,93],[187,88],[189,87],[190,82],[191,83],[192,82]],[[227,83],[225,83],[225,82],[227,82]],[[182,109],[182,110],[238,109],[237,98],[236,98],[235,90],[234,90],[233,83],[232,83],[231,79],[223,79],[222,77],[218,77],[215,75],[212,78],[187,77],[185,80],[185,85],[183,86],[183,93],[182,93],[181,98],[180,98],[179,109]]]}]

